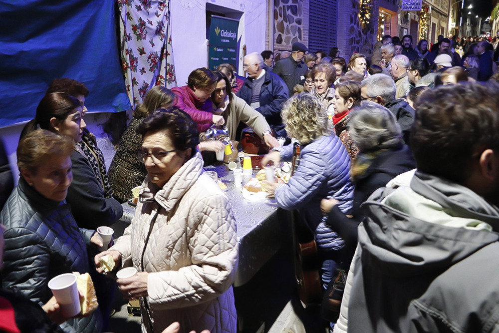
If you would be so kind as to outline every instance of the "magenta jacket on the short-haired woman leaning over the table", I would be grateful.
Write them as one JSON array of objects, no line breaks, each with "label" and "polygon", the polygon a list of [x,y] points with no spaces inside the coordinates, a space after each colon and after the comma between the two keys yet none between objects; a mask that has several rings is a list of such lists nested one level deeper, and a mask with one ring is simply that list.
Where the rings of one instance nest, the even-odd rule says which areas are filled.
[{"label": "magenta jacket on the short-haired woman leaning over the table", "polygon": [[192,120],[198,124],[198,132],[204,132],[213,125],[213,103],[210,99],[201,103],[187,85],[172,88],[172,91],[178,97],[175,98],[174,105],[189,113]]}]

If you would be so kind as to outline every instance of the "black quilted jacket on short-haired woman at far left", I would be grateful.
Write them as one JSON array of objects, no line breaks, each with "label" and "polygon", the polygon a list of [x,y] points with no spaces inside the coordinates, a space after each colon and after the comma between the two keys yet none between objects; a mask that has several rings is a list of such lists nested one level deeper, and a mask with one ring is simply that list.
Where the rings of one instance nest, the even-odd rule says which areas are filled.
[{"label": "black quilted jacket on short-haired woman at far left", "polygon": [[[64,201],[46,199],[21,177],[0,220],[6,227],[2,288],[43,305],[52,297],[51,278],[88,272],[86,244],[95,231],[79,229]],[[101,326],[96,311],[88,318],[69,320],[61,328],[64,332],[100,332]]]}]

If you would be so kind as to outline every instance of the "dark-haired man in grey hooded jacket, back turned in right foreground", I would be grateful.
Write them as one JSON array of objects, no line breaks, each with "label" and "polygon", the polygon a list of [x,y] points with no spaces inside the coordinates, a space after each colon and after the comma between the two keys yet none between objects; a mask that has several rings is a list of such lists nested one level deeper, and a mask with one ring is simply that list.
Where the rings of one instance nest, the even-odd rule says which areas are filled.
[{"label": "dark-haired man in grey hooded jacket, back turned in right foreground", "polygon": [[349,333],[497,331],[498,105],[492,83],[421,97],[411,133],[418,170],[363,206],[343,299]]}]

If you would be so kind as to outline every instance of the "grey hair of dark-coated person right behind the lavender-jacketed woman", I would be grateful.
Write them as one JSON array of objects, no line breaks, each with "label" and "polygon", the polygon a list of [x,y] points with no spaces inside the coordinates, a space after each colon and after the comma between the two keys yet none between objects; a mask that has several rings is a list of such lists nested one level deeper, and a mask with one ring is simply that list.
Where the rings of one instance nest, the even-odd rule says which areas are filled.
[{"label": "grey hair of dark-coated person right behind the lavender-jacketed woman", "polygon": [[402,130],[393,113],[371,101],[362,101],[353,109],[348,130],[361,151],[396,147],[402,142]]}]

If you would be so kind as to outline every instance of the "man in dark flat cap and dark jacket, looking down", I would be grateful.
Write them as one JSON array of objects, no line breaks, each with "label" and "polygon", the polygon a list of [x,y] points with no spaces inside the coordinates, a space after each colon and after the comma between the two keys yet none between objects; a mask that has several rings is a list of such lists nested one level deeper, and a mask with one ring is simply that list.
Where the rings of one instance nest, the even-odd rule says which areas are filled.
[{"label": "man in dark flat cap and dark jacket, looking down", "polygon": [[305,80],[307,65],[302,61],[308,48],[302,43],[293,43],[292,53],[287,58],[277,61],[274,65],[274,73],[279,75],[289,89],[289,96],[293,95],[293,88],[300,81]]}]

